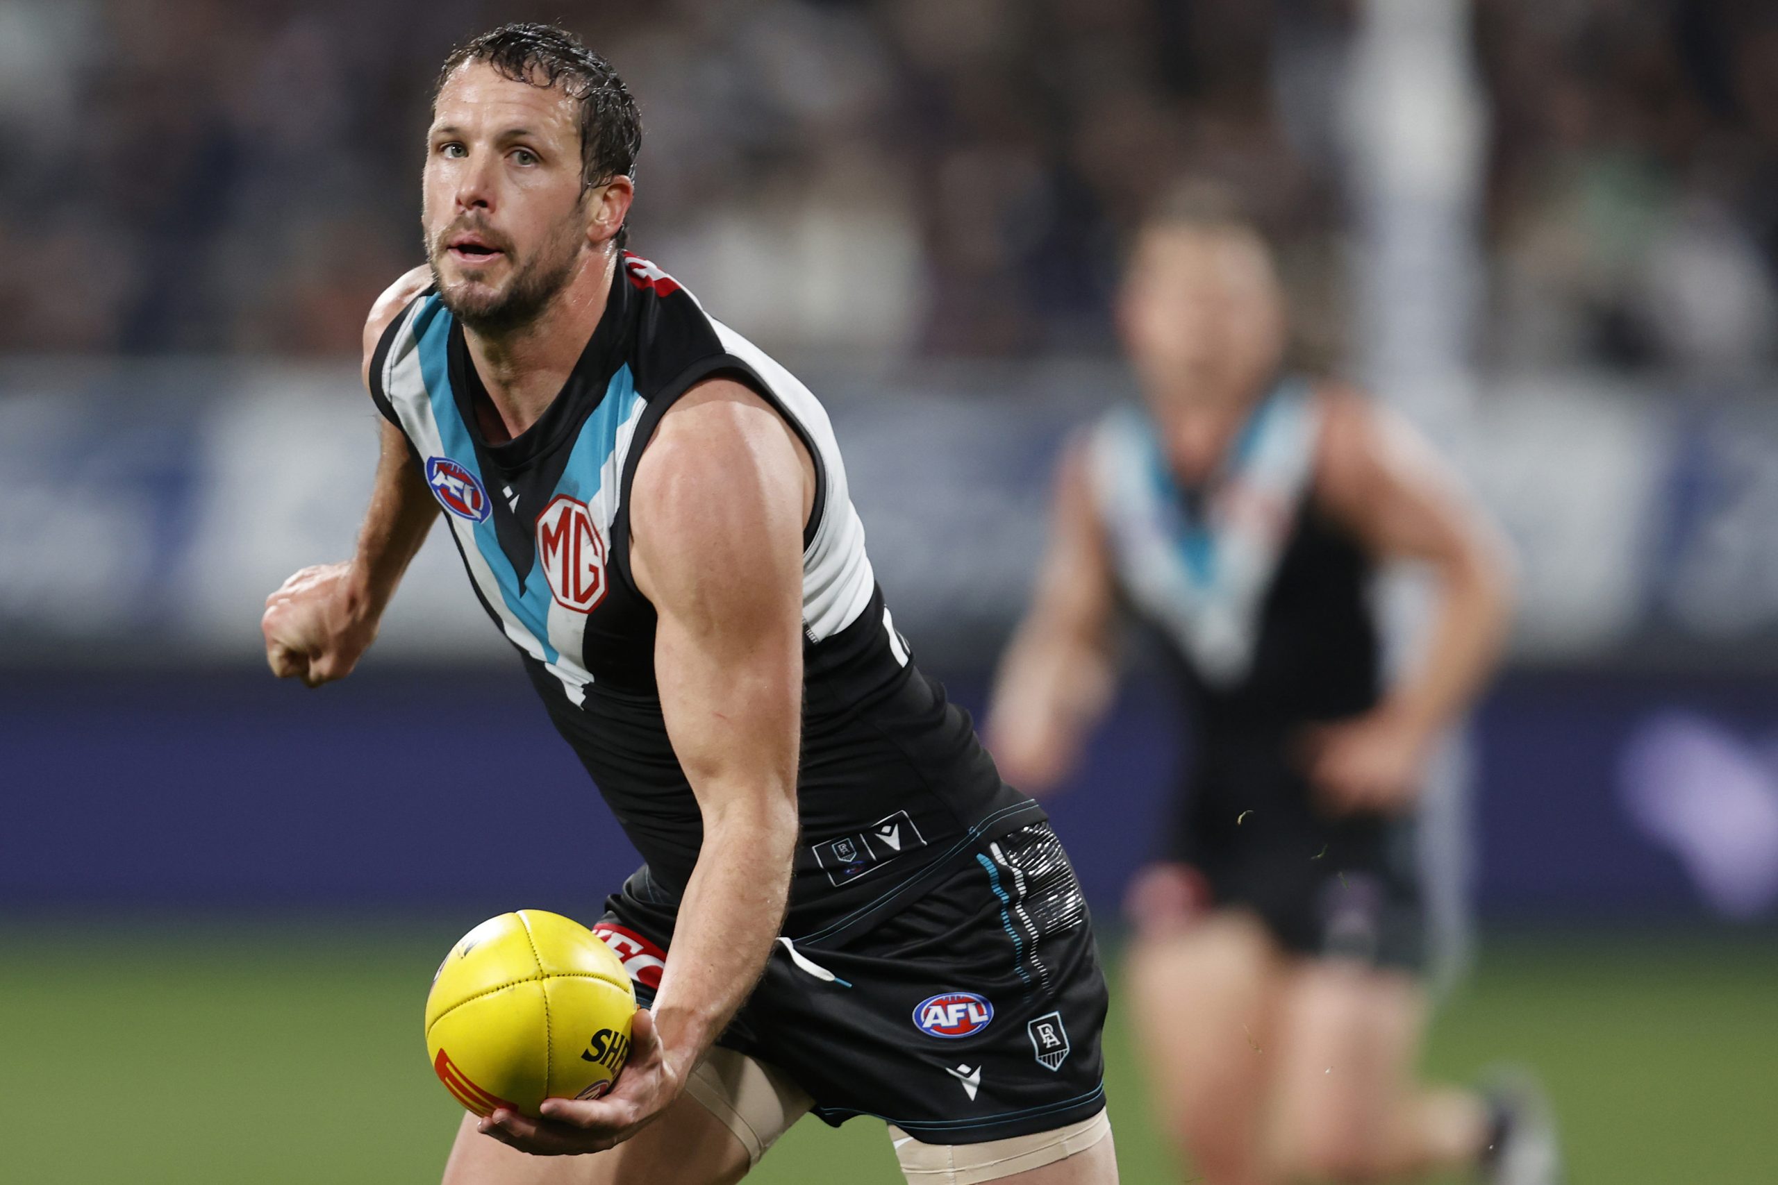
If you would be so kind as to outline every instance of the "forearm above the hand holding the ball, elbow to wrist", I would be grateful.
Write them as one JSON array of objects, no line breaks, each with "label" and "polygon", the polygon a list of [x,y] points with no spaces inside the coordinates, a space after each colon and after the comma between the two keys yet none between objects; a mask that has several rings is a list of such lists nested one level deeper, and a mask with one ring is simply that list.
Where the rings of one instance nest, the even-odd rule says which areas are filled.
[{"label": "forearm above the hand holding the ball, elbow to wrist", "polygon": [[789,897],[797,807],[770,803],[709,812],[704,844],[674,926],[672,952],[654,997],[654,1023],[681,1073],[747,1000],[772,954]]}]

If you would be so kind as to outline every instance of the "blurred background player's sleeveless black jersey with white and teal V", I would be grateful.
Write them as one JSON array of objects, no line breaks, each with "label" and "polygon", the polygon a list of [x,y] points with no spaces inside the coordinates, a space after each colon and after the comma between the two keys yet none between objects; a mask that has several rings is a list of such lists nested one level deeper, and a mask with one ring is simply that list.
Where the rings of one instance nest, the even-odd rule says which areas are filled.
[{"label": "blurred background player's sleeveless black jersey with white and teal V", "polygon": [[1120,595],[1168,645],[1202,744],[1362,712],[1380,691],[1373,565],[1314,505],[1321,403],[1284,378],[1202,489],[1173,476],[1154,421],[1120,407],[1088,441]]}]

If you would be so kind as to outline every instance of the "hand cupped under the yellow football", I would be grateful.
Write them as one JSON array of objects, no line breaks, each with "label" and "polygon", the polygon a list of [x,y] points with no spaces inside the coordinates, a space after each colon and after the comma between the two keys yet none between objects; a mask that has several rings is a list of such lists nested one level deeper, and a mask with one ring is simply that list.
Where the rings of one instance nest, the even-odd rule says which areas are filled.
[{"label": "hand cupped under the yellow football", "polygon": [[653,1013],[638,1009],[629,1029],[629,1059],[610,1094],[546,1098],[542,1119],[501,1107],[477,1123],[477,1130],[533,1157],[605,1151],[660,1117],[683,1087],[685,1077],[669,1066]]}]

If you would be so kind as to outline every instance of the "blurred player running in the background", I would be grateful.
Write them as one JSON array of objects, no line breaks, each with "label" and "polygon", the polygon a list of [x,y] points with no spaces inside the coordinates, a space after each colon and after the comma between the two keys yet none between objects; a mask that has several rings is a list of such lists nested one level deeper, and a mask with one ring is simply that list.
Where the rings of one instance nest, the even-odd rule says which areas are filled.
[{"label": "blurred player running in the background", "polygon": [[[1186,693],[1189,775],[1127,899],[1125,1002],[1166,1130],[1213,1185],[1554,1180],[1529,1100],[1414,1080],[1415,805],[1506,634],[1495,528],[1405,423],[1287,364],[1271,251],[1221,190],[1149,215],[1118,327],[1145,407],[1061,457],[989,732],[1017,785],[1067,776],[1125,615]],[[1371,593],[1394,561],[1428,565],[1438,606],[1385,686]]]}]

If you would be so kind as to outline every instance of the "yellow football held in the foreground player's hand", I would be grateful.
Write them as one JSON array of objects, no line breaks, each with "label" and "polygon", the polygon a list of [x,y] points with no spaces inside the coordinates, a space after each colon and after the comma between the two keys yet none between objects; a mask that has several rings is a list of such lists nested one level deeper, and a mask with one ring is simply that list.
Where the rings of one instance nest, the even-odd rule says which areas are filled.
[{"label": "yellow football held in the foreground player's hand", "polygon": [[427,995],[427,1057],[478,1116],[597,1098],[629,1054],[637,993],[605,942],[560,913],[501,913],[457,940]]}]

